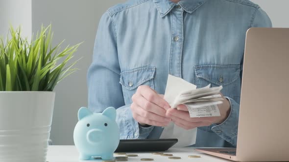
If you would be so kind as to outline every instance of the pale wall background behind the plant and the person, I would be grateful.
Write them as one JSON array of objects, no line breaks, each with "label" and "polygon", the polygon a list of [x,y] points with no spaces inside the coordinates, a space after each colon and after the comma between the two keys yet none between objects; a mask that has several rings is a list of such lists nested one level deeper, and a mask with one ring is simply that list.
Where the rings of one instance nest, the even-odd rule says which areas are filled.
[{"label": "pale wall background behind the plant and the person", "polygon": [[[62,45],[82,42],[75,53],[76,73],[60,82],[56,99],[50,138],[52,144],[72,145],[77,110],[87,106],[86,72],[92,61],[93,45],[98,20],[110,6],[125,0],[0,0],[0,35],[7,33],[9,23],[23,24],[24,35],[36,33],[41,24],[52,24],[53,43]],[[289,27],[289,0],[252,0],[271,18],[274,27]],[[32,6],[32,7],[31,7]],[[100,94],[101,95],[101,94]]]}]

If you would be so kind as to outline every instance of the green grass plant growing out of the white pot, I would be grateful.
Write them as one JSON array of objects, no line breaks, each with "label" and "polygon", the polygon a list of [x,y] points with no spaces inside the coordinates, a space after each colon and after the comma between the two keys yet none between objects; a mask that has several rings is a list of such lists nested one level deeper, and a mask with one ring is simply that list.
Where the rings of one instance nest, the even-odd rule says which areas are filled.
[{"label": "green grass plant growing out of the white pot", "polygon": [[41,27],[36,38],[21,37],[21,27],[10,27],[0,39],[0,91],[53,91],[55,85],[77,69],[69,63],[79,44],[60,50],[52,42],[51,25]]}]

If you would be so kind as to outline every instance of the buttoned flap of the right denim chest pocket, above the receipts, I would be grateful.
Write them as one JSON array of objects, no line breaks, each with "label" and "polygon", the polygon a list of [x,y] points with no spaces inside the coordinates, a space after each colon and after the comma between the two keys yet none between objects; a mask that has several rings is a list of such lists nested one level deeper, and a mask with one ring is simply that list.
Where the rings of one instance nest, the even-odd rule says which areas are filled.
[{"label": "buttoned flap of the right denim chest pocket, above the receipts", "polygon": [[240,78],[240,65],[199,65],[194,70],[197,78],[217,85],[227,85]]}]

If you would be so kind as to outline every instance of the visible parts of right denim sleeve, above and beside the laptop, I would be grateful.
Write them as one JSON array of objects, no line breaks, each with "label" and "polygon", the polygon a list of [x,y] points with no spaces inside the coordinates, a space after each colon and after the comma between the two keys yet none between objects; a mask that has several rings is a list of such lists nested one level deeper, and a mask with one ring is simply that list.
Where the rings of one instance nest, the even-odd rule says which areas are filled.
[{"label": "visible parts of right denim sleeve, above and beside the laptop", "polygon": [[[261,8],[257,8],[255,16],[251,20],[251,27],[272,27],[272,23],[268,15]],[[242,77],[242,63],[241,63],[241,73]],[[242,78],[241,78],[242,79]],[[238,138],[238,122],[239,122],[239,109],[240,103],[234,101],[233,99],[226,97],[230,101],[231,112],[228,118],[221,124],[214,124],[212,130],[220,136],[222,139],[230,142],[233,146],[237,146]]]}]

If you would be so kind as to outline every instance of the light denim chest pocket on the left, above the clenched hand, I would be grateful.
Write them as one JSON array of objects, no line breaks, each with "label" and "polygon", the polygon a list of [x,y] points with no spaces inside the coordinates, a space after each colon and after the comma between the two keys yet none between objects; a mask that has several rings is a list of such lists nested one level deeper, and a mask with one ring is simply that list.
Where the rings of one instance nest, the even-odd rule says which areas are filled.
[{"label": "light denim chest pocket on the left, above the clenched hand", "polygon": [[154,89],[156,67],[140,67],[120,73],[120,84],[125,104],[130,104],[131,97],[140,85],[148,85]]}]

